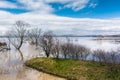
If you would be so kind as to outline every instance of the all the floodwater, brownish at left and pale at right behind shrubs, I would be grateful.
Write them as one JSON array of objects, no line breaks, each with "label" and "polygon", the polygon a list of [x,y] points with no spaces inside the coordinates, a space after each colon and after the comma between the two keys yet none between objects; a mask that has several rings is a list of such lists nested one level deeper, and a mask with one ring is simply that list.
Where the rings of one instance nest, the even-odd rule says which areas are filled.
[{"label": "all the floodwater, brownish at left and pale at right behind shrubs", "polygon": [[[120,43],[116,43],[116,41],[97,41],[93,40],[92,37],[73,37],[72,40],[75,44],[84,45],[91,50],[117,50],[120,47]],[[4,42],[5,39],[2,38],[0,41]],[[36,49],[35,46],[29,45],[28,42],[24,43],[21,52],[24,55],[24,61],[34,57],[44,56],[41,50]],[[14,47],[12,47],[10,51],[0,52],[0,80],[64,80],[28,68],[24,65],[24,61],[21,61],[20,54]]]}]

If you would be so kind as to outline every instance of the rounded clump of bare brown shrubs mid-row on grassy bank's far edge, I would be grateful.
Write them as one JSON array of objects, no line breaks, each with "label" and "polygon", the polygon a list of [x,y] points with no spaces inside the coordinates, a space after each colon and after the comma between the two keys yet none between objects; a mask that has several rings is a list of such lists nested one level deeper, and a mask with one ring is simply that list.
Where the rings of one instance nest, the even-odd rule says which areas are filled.
[{"label": "rounded clump of bare brown shrubs mid-row on grassy bank's far edge", "polygon": [[62,44],[61,48],[64,58],[86,60],[87,56],[90,53],[89,48],[71,42]]}]

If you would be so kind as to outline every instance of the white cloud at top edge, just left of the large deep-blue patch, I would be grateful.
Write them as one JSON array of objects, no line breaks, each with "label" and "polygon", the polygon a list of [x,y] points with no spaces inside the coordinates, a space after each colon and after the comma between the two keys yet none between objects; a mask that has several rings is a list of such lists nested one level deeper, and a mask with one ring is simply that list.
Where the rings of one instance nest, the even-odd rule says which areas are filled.
[{"label": "white cloud at top edge, just left of the large deep-blue patch", "polygon": [[[40,13],[51,13],[54,9],[44,0],[18,0],[22,8]],[[20,6],[21,7],[21,6]]]}]

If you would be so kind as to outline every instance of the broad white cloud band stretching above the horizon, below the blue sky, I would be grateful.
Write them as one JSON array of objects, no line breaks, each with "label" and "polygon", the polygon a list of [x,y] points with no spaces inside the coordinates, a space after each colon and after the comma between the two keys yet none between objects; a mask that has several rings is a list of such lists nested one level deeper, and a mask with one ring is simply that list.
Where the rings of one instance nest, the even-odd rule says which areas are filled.
[{"label": "broad white cloud band stretching above the horizon, below the blue sky", "polygon": [[11,14],[5,11],[0,11],[0,31],[5,33],[17,20],[26,21],[44,31],[52,30],[56,34],[120,34],[120,19],[76,19],[34,12]]}]

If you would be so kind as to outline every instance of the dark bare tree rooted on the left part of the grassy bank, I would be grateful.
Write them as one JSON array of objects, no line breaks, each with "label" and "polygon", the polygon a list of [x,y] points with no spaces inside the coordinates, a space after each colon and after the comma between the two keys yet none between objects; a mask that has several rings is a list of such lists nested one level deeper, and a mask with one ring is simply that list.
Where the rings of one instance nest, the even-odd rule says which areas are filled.
[{"label": "dark bare tree rooted on the left part of the grassy bank", "polygon": [[39,39],[39,45],[45,52],[46,57],[51,55],[51,51],[54,45],[54,34],[51,31],[45,32]]}]

